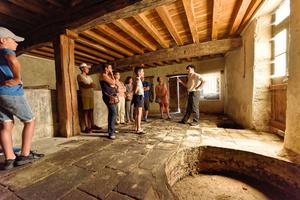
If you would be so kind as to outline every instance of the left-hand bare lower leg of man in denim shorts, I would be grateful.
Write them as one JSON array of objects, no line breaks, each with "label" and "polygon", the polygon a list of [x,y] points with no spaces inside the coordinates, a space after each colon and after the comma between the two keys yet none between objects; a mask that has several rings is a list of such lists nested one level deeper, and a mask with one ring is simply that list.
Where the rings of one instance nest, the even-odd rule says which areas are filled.
[{"label": "left-hand bare lower leg of man in denim shorts", "polygon": [[0,141],[5,159],[15,159],[16,156],[13,151],[12,144],[12,129],[14,126],[13,122],[4,122],[1,125],[0,130]]}]

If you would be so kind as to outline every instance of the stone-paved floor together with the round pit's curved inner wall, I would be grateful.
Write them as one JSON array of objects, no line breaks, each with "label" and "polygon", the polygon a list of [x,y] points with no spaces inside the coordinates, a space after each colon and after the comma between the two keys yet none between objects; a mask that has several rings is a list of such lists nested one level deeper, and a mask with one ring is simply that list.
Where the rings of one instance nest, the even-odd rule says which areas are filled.
[{"label": "stone-paved floor together with the round pit's curved inner wall", "polygon": [[[181,116],[173,116],[179,121]],[[46,157],[0,171],[0,197],[34,199],[176,199],[171,186],[204,169],[247,172],[287,192],[300,158],[282,140],[253,130],[217,128],[224,116],[201,115],[198,127],[151,117],[145,135],[118,126],[116,140],[103,133],[36,142]],[[45,145],[47,144],[47,145]],[[52,144],[52,145],[50,145]],[[45,147],[43,147],[45,146]],[[0,158],[0,162],[3,157]],[[255,176],[254,176],[255,177]]]}]

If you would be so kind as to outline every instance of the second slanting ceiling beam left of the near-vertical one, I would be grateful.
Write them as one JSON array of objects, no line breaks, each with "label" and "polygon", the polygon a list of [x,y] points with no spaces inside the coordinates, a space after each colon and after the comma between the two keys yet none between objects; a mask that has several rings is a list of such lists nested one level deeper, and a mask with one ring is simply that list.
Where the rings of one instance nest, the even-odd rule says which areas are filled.
[{"label": "second slanting ceiling beam left of the near-vertical one", "polygon": [[165,24],[165,26],[167,27],[167,29],[170,32],[170,34],[172,35],[172,37],[174,38],[176,44],[183,45],[183,41],[180,38],[180,35],[176,30],[175,24],[174,24],[171,16],[168,13],[166,6],[157,7],[155,10],[156,10],[157,14],[159,15],[159,17],[161,18],[161,20],[163,21],[163,23]]}]

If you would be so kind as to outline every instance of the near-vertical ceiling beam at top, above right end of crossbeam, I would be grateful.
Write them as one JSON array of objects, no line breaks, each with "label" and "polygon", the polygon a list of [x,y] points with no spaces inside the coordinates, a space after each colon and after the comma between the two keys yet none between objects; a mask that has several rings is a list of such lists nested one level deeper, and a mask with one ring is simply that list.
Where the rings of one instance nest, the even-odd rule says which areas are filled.
[{"label": "near-vertical ceiling beam at top, above right end of crossbeam", "polygon": [[212,31],[211,39],[218,39],[218,29],[220,24],[220,15],[222,10],[222,0],[213,0],[213,11],[212,11]]}]

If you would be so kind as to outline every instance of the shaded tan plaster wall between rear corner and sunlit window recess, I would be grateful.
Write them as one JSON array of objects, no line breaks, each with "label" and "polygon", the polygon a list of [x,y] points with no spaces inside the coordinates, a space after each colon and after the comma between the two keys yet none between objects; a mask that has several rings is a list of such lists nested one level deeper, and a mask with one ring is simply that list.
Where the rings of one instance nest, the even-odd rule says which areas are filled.
[{"label": "shaded tan plaster wall between rear corner and sunlit window recess", "polygon": [[246,128],[252,128],[254,33],[256,22],[245,31],[243,47],[225,56],[225,113]]}]

